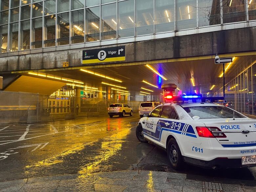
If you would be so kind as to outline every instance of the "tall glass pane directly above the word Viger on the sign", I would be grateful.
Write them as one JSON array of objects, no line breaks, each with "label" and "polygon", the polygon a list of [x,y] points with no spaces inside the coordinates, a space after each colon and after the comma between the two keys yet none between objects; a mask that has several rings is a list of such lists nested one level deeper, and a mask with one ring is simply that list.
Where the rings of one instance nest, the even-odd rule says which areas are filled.
[{"label": "tall glass pane directly above the word Viger on the sign", "polygon": [[101,40],[117,38],[116,3],[101,6]]}]

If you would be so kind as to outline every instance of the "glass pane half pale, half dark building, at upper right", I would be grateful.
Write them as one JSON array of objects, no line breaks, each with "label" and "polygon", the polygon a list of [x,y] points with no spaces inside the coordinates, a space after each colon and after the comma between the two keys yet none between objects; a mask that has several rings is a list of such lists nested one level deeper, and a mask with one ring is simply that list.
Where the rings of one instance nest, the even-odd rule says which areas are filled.
[{"label": "glass pane half pale, half dark building, at upper right", "polygon": [[199,27],[221,24],[220,0],[198,0]]}]

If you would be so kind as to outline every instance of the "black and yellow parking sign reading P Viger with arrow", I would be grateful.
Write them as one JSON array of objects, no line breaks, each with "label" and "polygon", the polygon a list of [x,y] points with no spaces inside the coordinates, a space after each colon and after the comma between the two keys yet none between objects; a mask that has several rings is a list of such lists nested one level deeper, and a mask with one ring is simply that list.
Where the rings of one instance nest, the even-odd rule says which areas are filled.
[{"label": "black and yellow parking sign reading P Viger with arrow", "polygon": [[125,46],[83,51],[83,64],[125,61]]}]

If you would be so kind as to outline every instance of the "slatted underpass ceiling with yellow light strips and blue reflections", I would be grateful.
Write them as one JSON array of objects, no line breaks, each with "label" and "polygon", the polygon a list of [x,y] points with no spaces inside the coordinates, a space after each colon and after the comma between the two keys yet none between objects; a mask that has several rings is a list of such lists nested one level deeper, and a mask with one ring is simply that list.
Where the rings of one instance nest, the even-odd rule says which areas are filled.
[{"label": "slatted underpass ceiling with yellow light strips and blue reflections", "polygon": [[[246,67],[251,65],[251,63],[253,63],[255,60],[256,55],[236,57],[225,73],[225,82],[227,83],[232,80]],[[208,92],[214,93],[223,86],[223,78],[219,77],[222,74],[223,65],[214,64],[214,59],[157,63],[151,64],[150,66],[158,71],[161,75],[163,75],[167,80],[164,80],[159,75],[155,74],[152,70],[146,67],[146,65],[88,69],[91,72],[119,79],[122,81],[121,83],[90,73],[85,73],[80,70],[48,71],[44,73],[57,77],[83,81],[84,85],[86,86],[102,87],[102,91],[104,91],[108,85],[104,85],[101,82],[123,86],[127,88],[127,91],[137,93],[143,91],[140,88],[144,87],[150,90],[154,90],[155,92],[152,94],[162,93],[160,87],[163,83],[175,83],[178,85],[178,88],[182,90],[182,93],[187,94],[194,93],[194,90],[197,90],[198,93],[201,92],[202,94]],[[191,78],[194,78],[195,87],[192,86],[190,80]],[[154,84],[159,88],[145,84],[142,82],[142,80],[148,81],[149,83]],[[216,86],[212,91],[210,91],[212,85]]]}]

